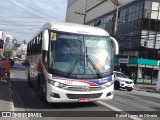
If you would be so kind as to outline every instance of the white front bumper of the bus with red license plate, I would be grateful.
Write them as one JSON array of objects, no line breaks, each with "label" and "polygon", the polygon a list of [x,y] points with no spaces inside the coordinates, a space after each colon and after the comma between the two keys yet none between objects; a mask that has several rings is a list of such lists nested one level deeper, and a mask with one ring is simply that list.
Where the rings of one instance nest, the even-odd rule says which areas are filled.
[{"label": "white front bumper of the bus with red license plate", "polygon": [[70,91],[47,83],[46,99],[48,102],[90,102],[113,98],[114,86],[99,91]]}]

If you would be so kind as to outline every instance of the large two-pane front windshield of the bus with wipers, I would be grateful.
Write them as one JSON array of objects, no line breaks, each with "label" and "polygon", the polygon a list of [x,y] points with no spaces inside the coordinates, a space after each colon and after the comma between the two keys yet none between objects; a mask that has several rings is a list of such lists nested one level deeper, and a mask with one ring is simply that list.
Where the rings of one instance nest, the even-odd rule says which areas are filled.
[{"label": "large two-pane front windshield of the bus with wipers", "polygon": [[49,56],[49,67],[68,75],[113,70],[113,45],[106,36],[51,32]]}]

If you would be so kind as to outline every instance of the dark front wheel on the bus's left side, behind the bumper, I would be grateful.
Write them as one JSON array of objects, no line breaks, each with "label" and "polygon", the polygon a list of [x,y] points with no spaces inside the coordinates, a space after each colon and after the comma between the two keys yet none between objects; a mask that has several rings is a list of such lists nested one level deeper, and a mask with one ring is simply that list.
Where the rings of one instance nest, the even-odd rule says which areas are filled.
[{"label": "dark front wheel on the bus's left side, behind the bumper", "polygon": [[46,83],[42,78],[38,77],[38,96],[41,101],[46,100],[46,93],[44,91],[46,92]]}]

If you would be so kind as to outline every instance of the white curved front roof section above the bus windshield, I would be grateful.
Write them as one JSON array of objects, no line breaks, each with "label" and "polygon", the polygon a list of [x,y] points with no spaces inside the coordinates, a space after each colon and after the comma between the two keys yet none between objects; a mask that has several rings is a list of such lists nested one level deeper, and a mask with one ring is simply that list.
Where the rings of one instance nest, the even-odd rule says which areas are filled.
[{"label": "white curved front roof section above the bus windshield", "polygon": [[71,32],[71,33],[77,33],[77,34],[89,34],[89,35],[97,35],[97,36],[109,36],[108,32],[101,28],[88,26],[88,25],[82,25],[77,23],[46,23],[43,29],[51,29],[56,31],[64,31],[64,32]]}]

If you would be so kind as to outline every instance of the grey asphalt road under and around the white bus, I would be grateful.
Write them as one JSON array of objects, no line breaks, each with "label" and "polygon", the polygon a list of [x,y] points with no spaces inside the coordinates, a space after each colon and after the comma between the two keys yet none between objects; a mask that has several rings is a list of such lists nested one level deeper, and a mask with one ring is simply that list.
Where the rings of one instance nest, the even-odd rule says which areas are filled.
[{"label": "grey asphalt road under and around the white bus", "polygon": [[[160,94],[158,93],[139,90],[133,90],[131,92],[115,90],[114,98],[110,101],[63,104],[46,103],[39,100],[34,87],[28,86],[25,67],[21,65],[21,62],[15,63],[12,68],[11,83],[15,111],[43,111],[44,113],[48,113],[49,116],[52,116],[38,118],[39,120],[53,120],[53,114],[58,114],[58,117],[54,116],[54,120],[160,120],[160,118],[156,118],[158,112],[153,112],[160,112]],[[82,114],[82,117],[80,114]],[[106,117],[113,116],[112,114],[114,114],[114,117]],[[140,114],[144,117],[141,118],[139,116]],[[74,117],[65,117],[67,115]],[[36,118],[31,117],[29,119],[34,120]]]}]

